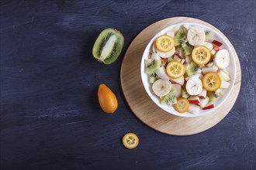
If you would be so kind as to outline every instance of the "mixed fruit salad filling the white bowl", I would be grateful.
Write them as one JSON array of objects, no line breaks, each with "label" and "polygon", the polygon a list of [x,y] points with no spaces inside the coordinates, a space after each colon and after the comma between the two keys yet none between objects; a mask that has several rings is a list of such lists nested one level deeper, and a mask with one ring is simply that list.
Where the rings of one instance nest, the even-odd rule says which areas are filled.
[{"label": "mixed fruit salad filling the white bowl", "polygon": [[214,37],[199,26],[183,25],[153,42],[146,72],[161,104],[192,114],[215,107],[230,87],[230,54]]}]

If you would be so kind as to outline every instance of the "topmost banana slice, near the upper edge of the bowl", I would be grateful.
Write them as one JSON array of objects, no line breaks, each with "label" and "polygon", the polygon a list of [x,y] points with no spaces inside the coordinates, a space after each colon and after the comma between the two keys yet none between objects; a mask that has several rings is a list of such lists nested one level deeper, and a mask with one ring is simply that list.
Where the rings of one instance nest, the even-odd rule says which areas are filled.
[{"label": "topmost banana slice, near the upper edge of the bowl", "polygon": [[189,44],[192,46],[199,46],[206,40],[205,31],[199,26],[193,26],[189,29],[188,36]]}]

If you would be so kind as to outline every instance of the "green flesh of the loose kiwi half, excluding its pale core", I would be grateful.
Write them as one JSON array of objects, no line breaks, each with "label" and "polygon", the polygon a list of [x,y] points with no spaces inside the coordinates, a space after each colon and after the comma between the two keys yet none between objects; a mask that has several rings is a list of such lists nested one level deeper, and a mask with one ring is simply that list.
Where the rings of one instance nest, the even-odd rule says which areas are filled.
[{"label": "green flesh of the loose kiwi half, excluding its pale core", "polygon": [[[112,50],[109,53],[109,55],[106,56],[105,59],[100,59],[102,50],[106,45],[106,42],[108,42],[111,36],[116,36],[116,41],[112,46]],[[99,59],[99,61],[102,63],[105,63],[105,64],[113,63],[114,61],[116,61],[116,59],[118,58],[119,54],[123,49],[123,42],[124,42],[124,38],[121,32],[111,28],[104,29],[99,34],[98,38],[95,41],[95,44],[92,49],[92,55],[95,57],[95,59]]]}]

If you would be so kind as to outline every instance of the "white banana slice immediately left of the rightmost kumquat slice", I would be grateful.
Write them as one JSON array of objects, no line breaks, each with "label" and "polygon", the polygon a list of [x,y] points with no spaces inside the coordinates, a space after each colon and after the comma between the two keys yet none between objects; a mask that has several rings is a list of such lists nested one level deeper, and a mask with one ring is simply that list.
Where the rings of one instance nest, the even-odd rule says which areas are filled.
[{"label": "white banana slice immediately left of the rightmost kumquat slice", "polygon": [[202,81],[197,76],[192,76],[186,83],[185,89],[190,95],[198,95],[202,92]]}]

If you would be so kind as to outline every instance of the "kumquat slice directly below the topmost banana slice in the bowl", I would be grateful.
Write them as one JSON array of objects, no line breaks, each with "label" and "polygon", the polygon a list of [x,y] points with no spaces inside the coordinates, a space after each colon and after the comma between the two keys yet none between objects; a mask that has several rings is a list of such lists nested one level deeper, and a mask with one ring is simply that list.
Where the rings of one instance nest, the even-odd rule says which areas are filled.
[{"label": "kumquat slice directly below the topmost banana slice in the bowl", "polygon": [[199,65],[204,65],[211,59],[211,52],[206,46],[195,46],[191,53],[192,59]]}]

